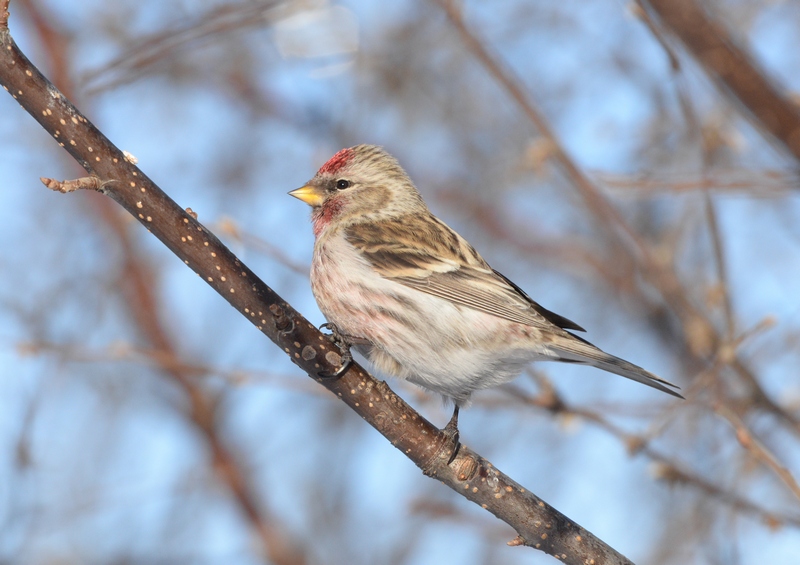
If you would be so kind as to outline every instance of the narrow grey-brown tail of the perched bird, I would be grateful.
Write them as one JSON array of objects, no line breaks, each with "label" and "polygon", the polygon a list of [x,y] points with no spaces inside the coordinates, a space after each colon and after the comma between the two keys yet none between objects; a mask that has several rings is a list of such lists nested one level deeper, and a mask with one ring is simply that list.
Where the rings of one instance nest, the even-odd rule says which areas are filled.
[{"label": "narrow grey-brown tail of the perched bird", "polygon": [[608,371],[609,373],[614,373],[615,375],[620,375],[636,382],[640,382],[660,390],[661,392],[671,394],[672,396],[683,398],[683,396],[671,388],[668,388],[672,387],[680,389],[679,386],[657,377],[649,371],[645,371],[638,365],[634,365],[633,363],[629,363],[624,359],[610,355],[576,335],[571,333],[569,333],[569,335],[570,338],[562,338],[559,336],[559,338],[556,338],[553,342],[548,344],[548,350],[551,353],[554,353],[559,361],[591,365],[593,367],[597,367],[598,369]]}]

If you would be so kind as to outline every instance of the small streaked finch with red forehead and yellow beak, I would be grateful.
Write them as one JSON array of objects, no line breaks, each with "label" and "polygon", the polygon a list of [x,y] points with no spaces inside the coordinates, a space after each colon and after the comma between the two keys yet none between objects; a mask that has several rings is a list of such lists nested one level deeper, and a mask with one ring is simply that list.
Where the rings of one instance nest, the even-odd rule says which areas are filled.
[{"label": "small streaked finch with red forehead and yellow beak", "polygon": [[311,289],[334,335],[383,373],[451,399],[456,442],[459,407],[531,361],[591,365],[683,398],[492,269],[381,147],[342,149],[289,194],[312,208]]}]

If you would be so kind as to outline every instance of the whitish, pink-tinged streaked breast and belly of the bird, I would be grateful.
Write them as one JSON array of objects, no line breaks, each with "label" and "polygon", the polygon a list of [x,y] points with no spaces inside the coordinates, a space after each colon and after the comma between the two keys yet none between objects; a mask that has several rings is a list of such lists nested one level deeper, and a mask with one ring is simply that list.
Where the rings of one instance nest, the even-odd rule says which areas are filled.
[{"label": "whitish, pink-tinged streaked breast and belly of the bird", "polygon": [[380,371],[463,405],[473,391],[513,379],[529,361],[552,358],[534,345],[534,328],[384,279],[332,235],[314,248],[314,296],[342,333],[373,344],[356,347]]}]

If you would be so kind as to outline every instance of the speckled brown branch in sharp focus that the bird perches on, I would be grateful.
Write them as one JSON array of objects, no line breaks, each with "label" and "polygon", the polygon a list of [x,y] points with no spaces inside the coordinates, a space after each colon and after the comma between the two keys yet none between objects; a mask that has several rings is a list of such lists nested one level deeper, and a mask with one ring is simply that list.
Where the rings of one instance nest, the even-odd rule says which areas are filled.
[{"label": "speckled brown branch in sharp focus that the bird perches on", "polygon": [[[569,564],[627,564],[628,559],[462,446],[448,465],[451,440],[358,365],[337,379],[319,377],[341,362],[329,340],[262,282],[195,216],[182,210],[23,55],[0,1],[0,84],[86,169],[74,183],[106,194],[222,295],[308,375],[333,392],[427,475],[511,525],[528,545]],[[92,178],[93,177],[93,178]],[[64,183],[47,180],[56,189]]]}]

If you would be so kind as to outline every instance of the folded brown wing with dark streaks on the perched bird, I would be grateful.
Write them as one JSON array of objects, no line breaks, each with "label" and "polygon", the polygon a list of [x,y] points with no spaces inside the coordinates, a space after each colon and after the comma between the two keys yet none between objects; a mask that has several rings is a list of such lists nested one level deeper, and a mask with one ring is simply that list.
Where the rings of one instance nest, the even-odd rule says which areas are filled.
[{"label": "folded brown wing with dark streaks on the perched bird", "polygon": [[432,216],[356,224],[345,237],[386,279],[512,322],[584,331],[531,300]]}]

